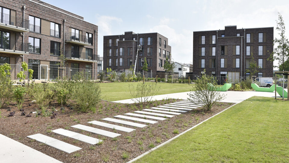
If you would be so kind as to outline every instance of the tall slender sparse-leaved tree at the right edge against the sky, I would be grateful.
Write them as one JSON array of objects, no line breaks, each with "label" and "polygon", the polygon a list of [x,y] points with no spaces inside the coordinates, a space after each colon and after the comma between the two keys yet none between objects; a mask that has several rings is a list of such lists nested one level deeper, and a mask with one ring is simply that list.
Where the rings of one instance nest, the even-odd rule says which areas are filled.
[{"label": "tall slender sparse-leaved tree at the right edge against the sky", "polygon": [[[271,53],[270,60],[273,62],[274,60],[278,61],[278,64],[281,66],[281,70],[285,69],[285,62],[289,59],[289,46],[288,46],[288,39],[285,36],[285,24],[283,21],[282,15],[278,12],[278,20],[276,30],[279,31],[280,38],[274,39],[274,45],[276,45],[276,48]],[[275,66],[277,67],[277,66]]]}]

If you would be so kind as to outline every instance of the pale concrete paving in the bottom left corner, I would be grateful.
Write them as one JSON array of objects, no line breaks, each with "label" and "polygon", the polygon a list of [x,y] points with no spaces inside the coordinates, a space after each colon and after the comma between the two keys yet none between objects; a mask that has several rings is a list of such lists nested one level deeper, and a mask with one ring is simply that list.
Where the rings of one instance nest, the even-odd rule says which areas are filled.
[{"label": "pale concrete paving in the bottom left corner", "polygon": [[61,163],[44,153],[0,134],[0,163]]}]

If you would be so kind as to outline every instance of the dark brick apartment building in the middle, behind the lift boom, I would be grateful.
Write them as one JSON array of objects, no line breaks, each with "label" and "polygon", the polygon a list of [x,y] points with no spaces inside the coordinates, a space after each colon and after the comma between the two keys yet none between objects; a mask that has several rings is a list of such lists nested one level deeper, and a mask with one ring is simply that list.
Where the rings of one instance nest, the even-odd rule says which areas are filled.
[{"label": "dark brick apartment building in the middle, behind the lift boom", "polygon": [[142,50],[137,56],[136,72],[142,73],[144,58],[147,59],[148,77],[164,77],[164,63],[166,57],[171,59],[171,46],[168,38],[158,33],[135,34],[124,32],[124,35],[103,37],[103,69],[111,68],[115,71],[129,72],[130,66],[135,64],[137,45]]}]

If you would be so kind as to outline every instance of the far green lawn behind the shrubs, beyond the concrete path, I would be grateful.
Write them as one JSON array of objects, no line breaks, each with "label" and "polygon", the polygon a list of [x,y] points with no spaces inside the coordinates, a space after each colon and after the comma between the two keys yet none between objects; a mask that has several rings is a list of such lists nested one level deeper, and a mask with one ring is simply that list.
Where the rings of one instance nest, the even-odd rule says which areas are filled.
[{"label": "far green lawn behind the shrubs, beyond the concrete path", "polygon": [[[118,83],[100,83],[102,97],[104,100],[117,101],[132,98],[129,93],[129,84],[137,85],[142,82],[118,82]],[[153,82],[146,82],[146,84],[155,84]],[[170,84],[170,83],[158,83],[161,87],[158,94],[170,94],[187,92],[192,90],[193,85],[190,84]]]}]

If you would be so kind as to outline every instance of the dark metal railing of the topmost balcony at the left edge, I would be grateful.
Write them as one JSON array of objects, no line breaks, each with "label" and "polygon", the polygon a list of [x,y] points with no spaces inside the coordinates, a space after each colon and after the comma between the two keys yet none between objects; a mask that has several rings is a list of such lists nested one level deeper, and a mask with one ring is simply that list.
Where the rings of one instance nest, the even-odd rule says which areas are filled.
[{"label": "dark metal railing of the topmost balcony at the left edge", "polygon": [[12,16],[10,14],[2,13],[2,18],[0,17],[0,23],[7,26],[15,26],[17,28],[29,30],[29,20],[23,19],[21,17]]}]

